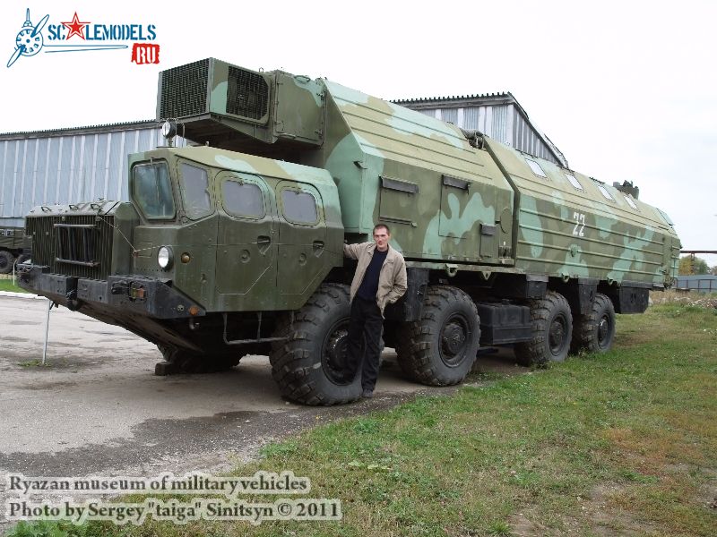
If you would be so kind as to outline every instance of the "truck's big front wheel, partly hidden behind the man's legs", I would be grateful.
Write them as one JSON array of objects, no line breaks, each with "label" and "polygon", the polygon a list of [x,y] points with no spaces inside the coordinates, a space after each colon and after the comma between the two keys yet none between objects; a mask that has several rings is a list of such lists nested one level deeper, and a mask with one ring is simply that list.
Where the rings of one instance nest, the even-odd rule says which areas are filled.
[{"label": "truck's big front wheel, partly hidden behind the man's legs", "polygon": [[349,287],[323,284],[307,303],[287,316],[269,361],[281,395],[304,405],[341,405],[361,395],[361,373],[346,378],[351,306]]}]

